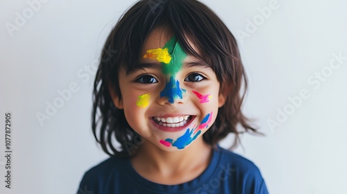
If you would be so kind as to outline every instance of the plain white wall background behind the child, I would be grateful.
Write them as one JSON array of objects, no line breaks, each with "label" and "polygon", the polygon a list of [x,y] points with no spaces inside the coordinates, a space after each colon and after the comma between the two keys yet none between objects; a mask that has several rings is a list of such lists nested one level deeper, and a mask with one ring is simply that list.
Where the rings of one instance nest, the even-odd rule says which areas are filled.
[{"label": "plain white wall background behind the child", "polygon": [[[95,73],[85,68],[99,59],[105,36],[133,2],[47,1],[30,15],[27,1],[1,0],[0,193],[76,193],[85,170],[108,157],[92,136]],[[242,136],[244,148],[235,152],[260,168],[270,193],[347,193],[347,60],[329,71],[333,53],[347,56],[346,1],[278,0],[265,19],[260,10],[269,0],[203,2],[237,37],[249,78],[244,111],[266,134]],[[6,24],[15,25],[16,12],[28,19],[10,32]],[[321,71],[324,81],[317,81]],[[41,125],[37,112],[44,114],[46,102],[73,82],[78,91]],[[303,89],[309,97],[294,107],[288,98]],[[285,108],[287,120],[271,130],[267,121]],[[3,182],[8,111],[12,189]]]}]

